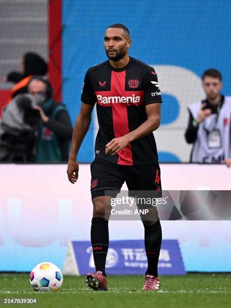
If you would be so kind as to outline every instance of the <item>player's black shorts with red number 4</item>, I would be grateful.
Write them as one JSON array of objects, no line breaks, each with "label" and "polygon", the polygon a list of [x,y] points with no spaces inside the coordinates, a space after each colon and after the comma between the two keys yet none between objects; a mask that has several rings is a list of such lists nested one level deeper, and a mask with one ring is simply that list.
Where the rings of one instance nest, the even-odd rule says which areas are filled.
[{"label": "player's black shorts with red number 4", "polygon": [[128,190],[162,190],[158,162],[122,166],[97,159],[91,164],[91,175],[92,199],[105,196],[105,190],[119,192],[124,182]]}]

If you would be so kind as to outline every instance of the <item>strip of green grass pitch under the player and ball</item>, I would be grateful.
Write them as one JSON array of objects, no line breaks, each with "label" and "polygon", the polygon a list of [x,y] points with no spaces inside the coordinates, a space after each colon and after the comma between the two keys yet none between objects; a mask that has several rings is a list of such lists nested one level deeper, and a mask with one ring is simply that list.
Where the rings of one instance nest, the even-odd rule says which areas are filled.
[{"label": "strip of green grass pitch under the player and ball", "polygon": [[[30,286],[29,273],[0,274],[0,307],[34,306],[71,307],[230,307],[231,274],[187,274],[161,276],[158,292],[141,291],[143,276],[108,276],[108,291],[85,286],[84,277],[64,276],[56,293],[36,293]],[[4,298],[36,298],[37,304],[3,304]]]}]

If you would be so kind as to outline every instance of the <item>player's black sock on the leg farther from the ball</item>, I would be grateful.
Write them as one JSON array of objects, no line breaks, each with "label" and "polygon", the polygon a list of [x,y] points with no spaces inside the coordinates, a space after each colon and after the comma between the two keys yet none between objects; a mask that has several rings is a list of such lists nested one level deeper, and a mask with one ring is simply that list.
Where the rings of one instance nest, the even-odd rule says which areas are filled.
[{"label": "player's black sock on the leg farther from the ball", "polygon": [[158,260],[161,251],[162,229],[160,220],[152,225],[144,225],[144,243],[147,256],[146,274],[158,276]]}]

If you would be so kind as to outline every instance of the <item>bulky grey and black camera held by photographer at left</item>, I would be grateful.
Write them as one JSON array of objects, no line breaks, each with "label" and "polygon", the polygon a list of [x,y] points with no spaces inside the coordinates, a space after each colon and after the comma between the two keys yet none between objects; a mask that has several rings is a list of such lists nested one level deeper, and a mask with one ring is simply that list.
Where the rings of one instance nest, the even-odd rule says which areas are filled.
[{"label": "bulky grey and black camera held by photographer at left", "polygon": [[32,162],[40,115],[32,109],[44,96],[18,95],[3,109],[0,119],[0,162]]}]

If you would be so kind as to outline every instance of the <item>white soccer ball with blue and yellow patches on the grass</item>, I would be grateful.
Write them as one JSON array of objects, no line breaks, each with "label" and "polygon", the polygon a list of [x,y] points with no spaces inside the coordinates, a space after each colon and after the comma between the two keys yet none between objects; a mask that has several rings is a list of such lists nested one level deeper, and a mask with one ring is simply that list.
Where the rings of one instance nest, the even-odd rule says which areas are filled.
[{"label": "white soccer ball with blue and yellow patches on the grass", "polygon": [[36,292],[55,292],[60,289],[62,281],[61,270],[50,262],[39,263],[30,274],[30,283]]}]

